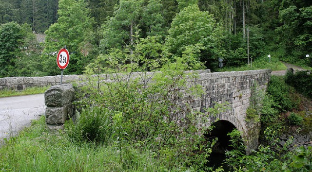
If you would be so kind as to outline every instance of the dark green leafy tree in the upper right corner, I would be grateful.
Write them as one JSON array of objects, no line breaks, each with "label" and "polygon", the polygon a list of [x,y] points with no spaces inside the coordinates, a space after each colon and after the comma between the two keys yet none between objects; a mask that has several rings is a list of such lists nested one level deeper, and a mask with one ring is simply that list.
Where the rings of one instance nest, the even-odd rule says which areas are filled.
[{"label": "dark green leafy tree in the upper right corner", "polygon": [[276,31],[280,35],[286,55],[292,56],[292,61],[307,60],[304,59],[305,54],[312,52],[312,2],[301,0],[273,2],[279,4],[279,19],[282,25]]}]

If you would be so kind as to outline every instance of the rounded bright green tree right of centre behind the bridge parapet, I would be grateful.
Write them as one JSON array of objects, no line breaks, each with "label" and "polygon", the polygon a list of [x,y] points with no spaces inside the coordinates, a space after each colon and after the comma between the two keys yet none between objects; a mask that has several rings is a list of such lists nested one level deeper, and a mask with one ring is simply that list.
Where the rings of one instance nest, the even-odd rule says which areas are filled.
[{"label": "rounded bright green tree right of centre behind the bridge parapet", "polygon": [[[174,18],[166,37],[167,53],[172,59],[192,53],[198,61],[212,67],[221,52],[222,27],[208,11],[199,11],[198,5],[189,5]],[[191,52],[190,52],[191,51]]]}]

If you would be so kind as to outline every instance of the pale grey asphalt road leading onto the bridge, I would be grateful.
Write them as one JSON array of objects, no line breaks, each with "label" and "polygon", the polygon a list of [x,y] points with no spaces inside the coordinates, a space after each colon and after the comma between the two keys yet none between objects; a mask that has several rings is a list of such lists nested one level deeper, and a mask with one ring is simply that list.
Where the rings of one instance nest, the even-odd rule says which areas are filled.
[{"label": "pale grey asphalt road leading onto the bridge", "polygon": [[44,115],[44,95],[0,98],[0,143]]}]

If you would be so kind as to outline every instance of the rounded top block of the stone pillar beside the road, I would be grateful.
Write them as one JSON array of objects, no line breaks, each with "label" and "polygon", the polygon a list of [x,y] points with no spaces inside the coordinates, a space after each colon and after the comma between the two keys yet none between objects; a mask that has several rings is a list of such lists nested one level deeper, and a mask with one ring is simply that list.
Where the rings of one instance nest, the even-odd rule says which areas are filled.
[{"label": "rounded top block of the stone pillar beside the road", "polygon": [[72,84],[62,84],[51,86],[44,93],[44,102],[46,106],[63,106],[72,103],[75,96],[75,89]]}]

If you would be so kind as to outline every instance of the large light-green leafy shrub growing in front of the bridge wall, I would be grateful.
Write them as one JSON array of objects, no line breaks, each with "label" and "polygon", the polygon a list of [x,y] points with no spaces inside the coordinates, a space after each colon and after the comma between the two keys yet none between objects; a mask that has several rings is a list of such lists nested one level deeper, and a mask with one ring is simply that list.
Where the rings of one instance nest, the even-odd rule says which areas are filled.
[{"label": "large light-green leafy shrub growing in front of the bridge wall", "polygon": [[[177,167],[209,170],[204,164],[211,151],[211,143],[199,146],[204,138],[196,127],[207,117],[194,112],[187,102],[181,104],[186,94],[197,97],[203,93],[201,86],[194,83],[197,74],[185,72],[197,66],[197,62],[184,63],[184,59],[188,58],[185,55],[174,63],[164,63],[160,71],[146,72],[155,70],[163,61],[159,59],[160,55],[150,53],[155,49],[148,49],[143,54],[139,48],[148,47],[141,47],[139,43],[136,46],[139,47],[134,49],[133,54],[137,55],[119,50],[101,55],[101,63],[94,64],[97,69],[90,68],[88,71],[107,74],[90,77],[87,86],[78,87],[77,106],[84,109],[88,105],[93,108],[98,106],[105,111],[103,113],[111,121],[108,126],[111,135],[106,136],[111,136],[111,143],[122,154],[121,162],[124,162],[123,157],[128,156],[126,145],[133,145],[138,150],[148,148],[169,170]],[[118,58],[120,54],[122,58]],[[145,58],[146,54],[153,58]],[[94,130],[99,130],[98,126],[102,124],[96,125]],[[201,151],[197,152],[198,149]]]}]

